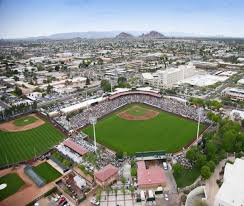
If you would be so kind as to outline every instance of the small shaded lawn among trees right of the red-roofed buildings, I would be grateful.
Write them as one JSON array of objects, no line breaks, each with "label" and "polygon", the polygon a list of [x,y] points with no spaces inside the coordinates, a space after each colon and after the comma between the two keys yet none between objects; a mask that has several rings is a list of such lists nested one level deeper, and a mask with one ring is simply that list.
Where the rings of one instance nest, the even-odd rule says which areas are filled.
[{"label": "small shaded lawn among trees right of the red-roofed buildings", "polygon": [[178,188],[191,185],[200,176],[200,170],[196,167],[192,169],[183,169],[180,175],[175,175],[174,178]]}]

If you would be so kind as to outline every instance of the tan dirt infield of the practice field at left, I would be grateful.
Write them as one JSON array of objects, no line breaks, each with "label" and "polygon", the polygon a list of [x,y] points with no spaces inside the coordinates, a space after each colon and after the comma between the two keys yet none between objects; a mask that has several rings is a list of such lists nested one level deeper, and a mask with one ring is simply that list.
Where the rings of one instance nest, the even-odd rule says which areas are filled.
[{"label": "tan dirt infield of the practice field at left", "polygon": [[9,122],[0,124],[0,130],[7,131],[7,132],[20,132],[20,131],[26,131],[29,129],[33,129],[33,128],[36,128],[36,127],[39,127],[39,126],[45,124],[45,121],[40,119],[36,114],[30,114],[28,116],[34,116],[35,118],[37,118],[37,121],[35,121],[34,123],[31,123],[31,124],[25,125],[25,126],[16,126],[14,124],[15,120],[11,120]]}]

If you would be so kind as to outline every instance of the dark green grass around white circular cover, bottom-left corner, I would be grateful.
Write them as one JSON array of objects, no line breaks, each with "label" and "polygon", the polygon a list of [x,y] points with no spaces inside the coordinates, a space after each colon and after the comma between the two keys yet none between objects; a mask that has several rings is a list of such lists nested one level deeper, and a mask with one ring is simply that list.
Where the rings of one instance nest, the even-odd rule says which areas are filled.
[{"label": "dark green grass around white circular cover, bottom-left corner", "polygon": [[0,184],[4,183],[7,184],[7,187],[0,190],[0,200],[4,200],[10,195],[13,195],[25,184],[25,182],[16,173],[0,177]]}]

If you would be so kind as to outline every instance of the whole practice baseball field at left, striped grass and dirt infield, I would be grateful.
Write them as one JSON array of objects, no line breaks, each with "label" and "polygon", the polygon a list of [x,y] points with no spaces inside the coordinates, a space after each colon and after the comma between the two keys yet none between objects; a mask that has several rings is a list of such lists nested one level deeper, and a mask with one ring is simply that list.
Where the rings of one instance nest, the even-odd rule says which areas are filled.
[{"label": "whole practice baseball field at left, striped grass and dirt infield", "polygon": [[48,121],[28,115],[0,124],[0,165],[32,159],[64,139]]}]

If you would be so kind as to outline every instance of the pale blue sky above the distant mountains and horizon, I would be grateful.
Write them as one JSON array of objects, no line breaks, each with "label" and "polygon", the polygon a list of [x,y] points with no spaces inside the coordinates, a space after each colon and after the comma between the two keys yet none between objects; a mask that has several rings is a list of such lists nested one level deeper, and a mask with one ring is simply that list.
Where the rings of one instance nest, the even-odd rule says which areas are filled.
[{"label": "pale blue sky above the distant mountains and horizon", "polygon": [[244,0],[0,0],[0,38],[115,30],[244,37]]}]

